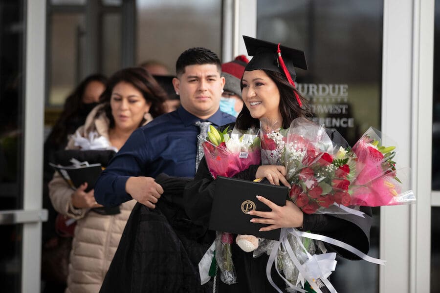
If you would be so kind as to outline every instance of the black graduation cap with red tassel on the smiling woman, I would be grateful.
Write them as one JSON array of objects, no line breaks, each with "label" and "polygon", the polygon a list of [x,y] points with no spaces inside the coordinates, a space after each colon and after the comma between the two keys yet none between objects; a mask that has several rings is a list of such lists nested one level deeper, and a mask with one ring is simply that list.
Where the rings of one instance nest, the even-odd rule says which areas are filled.
[{"label": "black graduation cap with red tassel on the smiling woman", "polygon": [[[246,45],[247,55],[253,56],[252,60],[247,63],[245,70],[252,71],[256,69],[266,69],[285,73],[278,61],[278,44],[254,39],[248,36],[243,36],[243,40]],[[294,67],[307,70],[304,51],[282,45],[280,45],[280,50],[286,68],[289,71],[292,80],[295,81],[296,72]]]}]

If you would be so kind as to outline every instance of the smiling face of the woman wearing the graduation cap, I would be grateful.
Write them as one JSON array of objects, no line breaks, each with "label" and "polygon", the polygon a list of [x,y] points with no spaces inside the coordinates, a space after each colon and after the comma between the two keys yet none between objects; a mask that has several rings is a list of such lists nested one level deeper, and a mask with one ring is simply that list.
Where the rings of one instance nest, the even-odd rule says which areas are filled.
[{"label": "smiling face of the woman wearing the graduation cap", "polygon": [[242,98],[252,118],[267,118],[282,124],[280,91],[263,70],[244,71]]}]

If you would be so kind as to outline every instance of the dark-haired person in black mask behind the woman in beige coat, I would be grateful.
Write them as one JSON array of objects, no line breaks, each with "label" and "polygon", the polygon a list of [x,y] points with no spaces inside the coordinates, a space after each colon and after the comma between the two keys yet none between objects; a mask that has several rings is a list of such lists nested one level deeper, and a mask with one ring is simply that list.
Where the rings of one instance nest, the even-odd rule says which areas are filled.
[{"label": "dark-haired person in black mask behind the woman in beige coat", "polygon": [[64,292],[66,272],[59,268],[58,261],[53,261],[54,250],[61,250],[67,245],[64,238],[55,232],[57,212],[49,199],[48,183],[52,180],[53,168],[49,162],[55,159],[55,153],[66,147],[68,136],[84,124],[88,113],[98,105],[99,96],[105,89],[107,78],[102,74],[93,74],[85,78],[66,98],[60,118],[52,127],[44,142],[44,173],[43,173],[43,208],[48,210],[48,219],[43,223],[42,235],[42,279],[44,292]]}]

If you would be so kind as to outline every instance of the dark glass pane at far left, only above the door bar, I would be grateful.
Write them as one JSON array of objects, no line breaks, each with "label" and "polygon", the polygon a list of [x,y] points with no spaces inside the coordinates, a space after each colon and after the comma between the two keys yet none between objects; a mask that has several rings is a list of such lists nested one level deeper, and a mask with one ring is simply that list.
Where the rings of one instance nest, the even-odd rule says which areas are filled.
[{"label": "dark glass pane at far left, only above the door bar", "polygon": [[0,207],[22,208],[23,4],[0,9]]}]

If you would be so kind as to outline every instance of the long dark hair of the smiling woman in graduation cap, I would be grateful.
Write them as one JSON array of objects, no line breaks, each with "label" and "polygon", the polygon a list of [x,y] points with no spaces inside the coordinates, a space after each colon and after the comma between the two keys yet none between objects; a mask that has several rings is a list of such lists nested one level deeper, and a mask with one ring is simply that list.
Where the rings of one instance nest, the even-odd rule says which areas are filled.
[{"label": "long dark hair of the smiling woman in graduation cap", "polygon": [[[286,76],[279,72],[262,69],[267,76],[274,81],[280,91],[280,112],[283,117],[283,128],[288,128],[290,123],[298,117],[311,118],[313,114],[310,110],[308,100],[305,99],[299,91],[289,84]],[[241,88],[243,90],[243,83],[241,81]],[[302,107],[298,105],[294,92],[296,92],[303,104]],[[260,121],[256,118],[252,118],[249,109],[243,106],[242,111],[239,113],[235,125],[239,129],[247,129],[249,127],[260,127]]]}]

